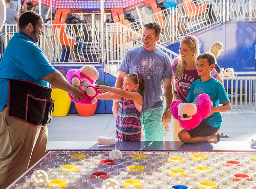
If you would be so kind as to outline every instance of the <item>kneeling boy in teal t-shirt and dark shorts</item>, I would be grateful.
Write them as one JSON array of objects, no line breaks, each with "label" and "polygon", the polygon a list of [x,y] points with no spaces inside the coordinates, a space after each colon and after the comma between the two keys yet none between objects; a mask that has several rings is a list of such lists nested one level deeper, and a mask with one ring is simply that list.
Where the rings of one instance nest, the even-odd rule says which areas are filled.
[{"label": "kneeling boy in teal t-shirt and dark shorts", "polygon": [[[191,84],[187,102],[196,102],[196,98],[206,93],[210,96],[213,106],[209,115],[194,129],[183,129],[179,132],[180,141],[184,143],[219,141],[219,135],[215,134],[220,129],[222,117],[220,112],[228,112],[232,109],[224,86],[211,76],[216,63],[215,56],[211,53],[203,53],[196,59],[196,71],[200,79]],[[223,104],[222,106],[219,106]]]}]

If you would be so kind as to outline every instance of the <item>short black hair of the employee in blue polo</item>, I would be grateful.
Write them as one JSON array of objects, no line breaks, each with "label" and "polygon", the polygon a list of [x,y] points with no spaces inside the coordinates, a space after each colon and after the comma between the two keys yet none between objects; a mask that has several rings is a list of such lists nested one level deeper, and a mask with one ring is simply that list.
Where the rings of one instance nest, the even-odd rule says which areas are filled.
[{"label": "short black hair of the employee in blue polo", "polygon": [[26,26],[31,23],[33,27],[36,27],[38,20],[43,19],[37,12],[35,11],[26,11],[19,18],[19,29],[23,30]]}]

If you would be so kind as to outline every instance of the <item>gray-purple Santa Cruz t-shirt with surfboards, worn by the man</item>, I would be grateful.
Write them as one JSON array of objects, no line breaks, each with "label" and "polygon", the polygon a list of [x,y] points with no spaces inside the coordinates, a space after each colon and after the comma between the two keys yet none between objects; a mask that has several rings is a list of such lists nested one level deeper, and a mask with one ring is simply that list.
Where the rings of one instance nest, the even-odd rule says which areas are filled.
[{"label": "gray-purple Santa Cruz t-shirt with surfboards, worn by the man", "polygon": [[163,105],[161,84],[163,78],[172,78],[170,57],[156,48],[146,50],[143,46],[128,50],[118,71],[139,73],[145,80],[143,110],[154,110]]}]

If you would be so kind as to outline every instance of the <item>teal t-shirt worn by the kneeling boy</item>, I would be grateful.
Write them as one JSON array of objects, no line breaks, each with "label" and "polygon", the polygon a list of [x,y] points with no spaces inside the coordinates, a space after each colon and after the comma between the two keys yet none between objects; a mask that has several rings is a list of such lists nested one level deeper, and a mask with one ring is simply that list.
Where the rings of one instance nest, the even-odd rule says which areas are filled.
[{"label": "teal t-shirt worn by the kneeling boy", "polygon": [[[214,78],[211,78],[205,82],[201,82],[201,79],[194,81],[191,84],[186,100],[187,102],[197,102],[196,98],[203,93],[206,93],[210,96],[211,101],[213,102],[213,106],[219,106],[219,104],[229,101],[224,86]],[[222,116],[219,112],[215,112],[202,121],[211,127],[220,127]]]}]

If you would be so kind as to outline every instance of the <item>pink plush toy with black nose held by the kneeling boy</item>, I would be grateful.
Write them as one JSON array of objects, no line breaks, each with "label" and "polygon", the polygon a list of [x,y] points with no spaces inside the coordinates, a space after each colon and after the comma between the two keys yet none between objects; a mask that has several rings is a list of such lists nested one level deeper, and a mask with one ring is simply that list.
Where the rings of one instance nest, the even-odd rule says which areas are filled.
[{"label": "pink plush toy with black nose held by the kneeling boy", "polygon": [[197,127],[211,112],[212,102],[208,94],[200,94],[196,100],[197,104],[182,103],[180,100],[171,103],[172,116],[179,120],[184,129]]}]

